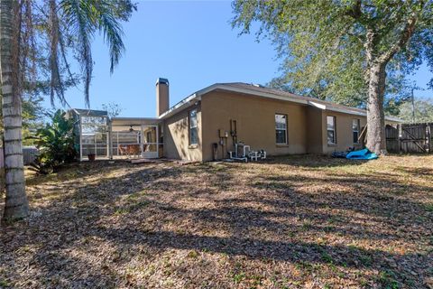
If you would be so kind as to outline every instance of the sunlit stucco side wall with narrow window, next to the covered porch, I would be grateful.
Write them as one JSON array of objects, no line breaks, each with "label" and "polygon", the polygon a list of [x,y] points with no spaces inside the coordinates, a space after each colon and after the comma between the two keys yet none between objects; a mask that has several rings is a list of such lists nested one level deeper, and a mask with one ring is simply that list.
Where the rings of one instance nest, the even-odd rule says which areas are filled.
[{"label": "sunlit stucco side wall with narrow window, next to the covered porch", "polygon": [[[197,108],[198,144],[189,145],[189,111]],[[202,114],[199,106],[189,107],[164,121],[164,157],[202,161]]]}]

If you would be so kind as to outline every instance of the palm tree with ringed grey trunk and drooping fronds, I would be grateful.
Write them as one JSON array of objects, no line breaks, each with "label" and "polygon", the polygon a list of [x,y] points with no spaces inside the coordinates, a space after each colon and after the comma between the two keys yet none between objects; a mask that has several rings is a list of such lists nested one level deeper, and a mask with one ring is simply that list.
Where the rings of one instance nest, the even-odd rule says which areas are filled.
[{"label": "palm tree with ringed grey trunk and drooping fronds", "polygon": [[[51,103],[58,98],[65,104],[65,82],[75,84],[77,79],[69,69],[67,56],[71,50],[81,67],[88,106],[95,33],[104,35],[113,72],[124,52],[120,20],[127,20],[136,7],[130,0],[0,0],[0,9],[6,192],[3,219],[11,220],[29,214],[23,174],[21,96],[23,83],[32,82],[29,75],[38,73],[34,64],[41,64],[40,71],[50,71]],[[43,40],[48,40],[45,46],[41,45]],[[44,51],[48,51],[47,57],[39,57]],[[66,80],[64,73],[68,75]]]}]

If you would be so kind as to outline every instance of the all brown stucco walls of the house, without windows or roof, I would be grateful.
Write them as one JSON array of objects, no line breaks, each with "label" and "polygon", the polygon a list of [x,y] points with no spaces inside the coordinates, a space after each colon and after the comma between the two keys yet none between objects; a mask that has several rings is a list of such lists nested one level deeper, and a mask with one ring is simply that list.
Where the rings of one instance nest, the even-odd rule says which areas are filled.
[{"label": "all brown stucco walls of the house, without windows or roof", "polygon": [[[230,135],[230,120],[237,122],[237,141],[249,144],[253,150],[264,149],[269,155],[332,154],[353,143],[352,121],[359,119],[359,134],[366,117],[338,113],[288,101],[251,95],[212,91],[202,96],[198,109],[198,145],[189,145],[189,111],[164,121],[164,156],[193,161],[211,161],[212,144],[217,143],[217,158],[228,157],[234,150]],[[275,142],[275,114],[288,116],[288,144]],[[336,144],[327,144],[327,116],[336,117]],[[219,130],[228,134],[220,144]]]}]

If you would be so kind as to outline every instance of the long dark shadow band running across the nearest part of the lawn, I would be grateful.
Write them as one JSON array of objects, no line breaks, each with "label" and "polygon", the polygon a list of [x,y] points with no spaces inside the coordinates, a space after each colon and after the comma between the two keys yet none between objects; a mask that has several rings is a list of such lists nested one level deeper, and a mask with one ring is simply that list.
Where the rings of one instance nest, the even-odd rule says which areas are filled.
[{"label": "long dark shadow band running across the nearest part of the lawn", "polygon": [[[92,232],[90,232],[92,233]],[[147,244],[166,249],[194,249],[229,256],[247,256],[263,260],[272,259],[290,263],[309,262],[333,264],[354,268],[387,267],[392,270],[394,263],[412,264],[399,273],[410,275],[410,270],[431,264],[428,254],[391,254],[384,250],[348,247],[345,245],[323,245],[310,242],[272,241],[261,238],[222,238],[191,234],[177,234],[171,231],[141,231],[135,228],[108,228],[93,232],[99,238],[108,238],[118,246],[121,244]],[[368,258],[368,261],[366,260]],[[417,260],[414,262],[414,260]],[[422,264],[417,264],[422,262]]]}]

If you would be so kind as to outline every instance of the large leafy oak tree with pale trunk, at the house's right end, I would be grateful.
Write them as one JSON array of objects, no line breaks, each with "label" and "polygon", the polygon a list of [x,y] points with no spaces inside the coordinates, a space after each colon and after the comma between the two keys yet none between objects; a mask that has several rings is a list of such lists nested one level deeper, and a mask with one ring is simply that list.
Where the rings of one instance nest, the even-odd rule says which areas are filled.
[{"label": "large leafy oak tree with pale trunk, at the house's right end", "polygon": [[365,95],[367,147],[386,152],[387,75],[404,77],[423,61],[433,67],[433,1],[236,0],[232,6],[235,27],[250,33],[258,22],[258,37],[277,46],[281,85],[334,98],[344,88],[354,103]]}]

